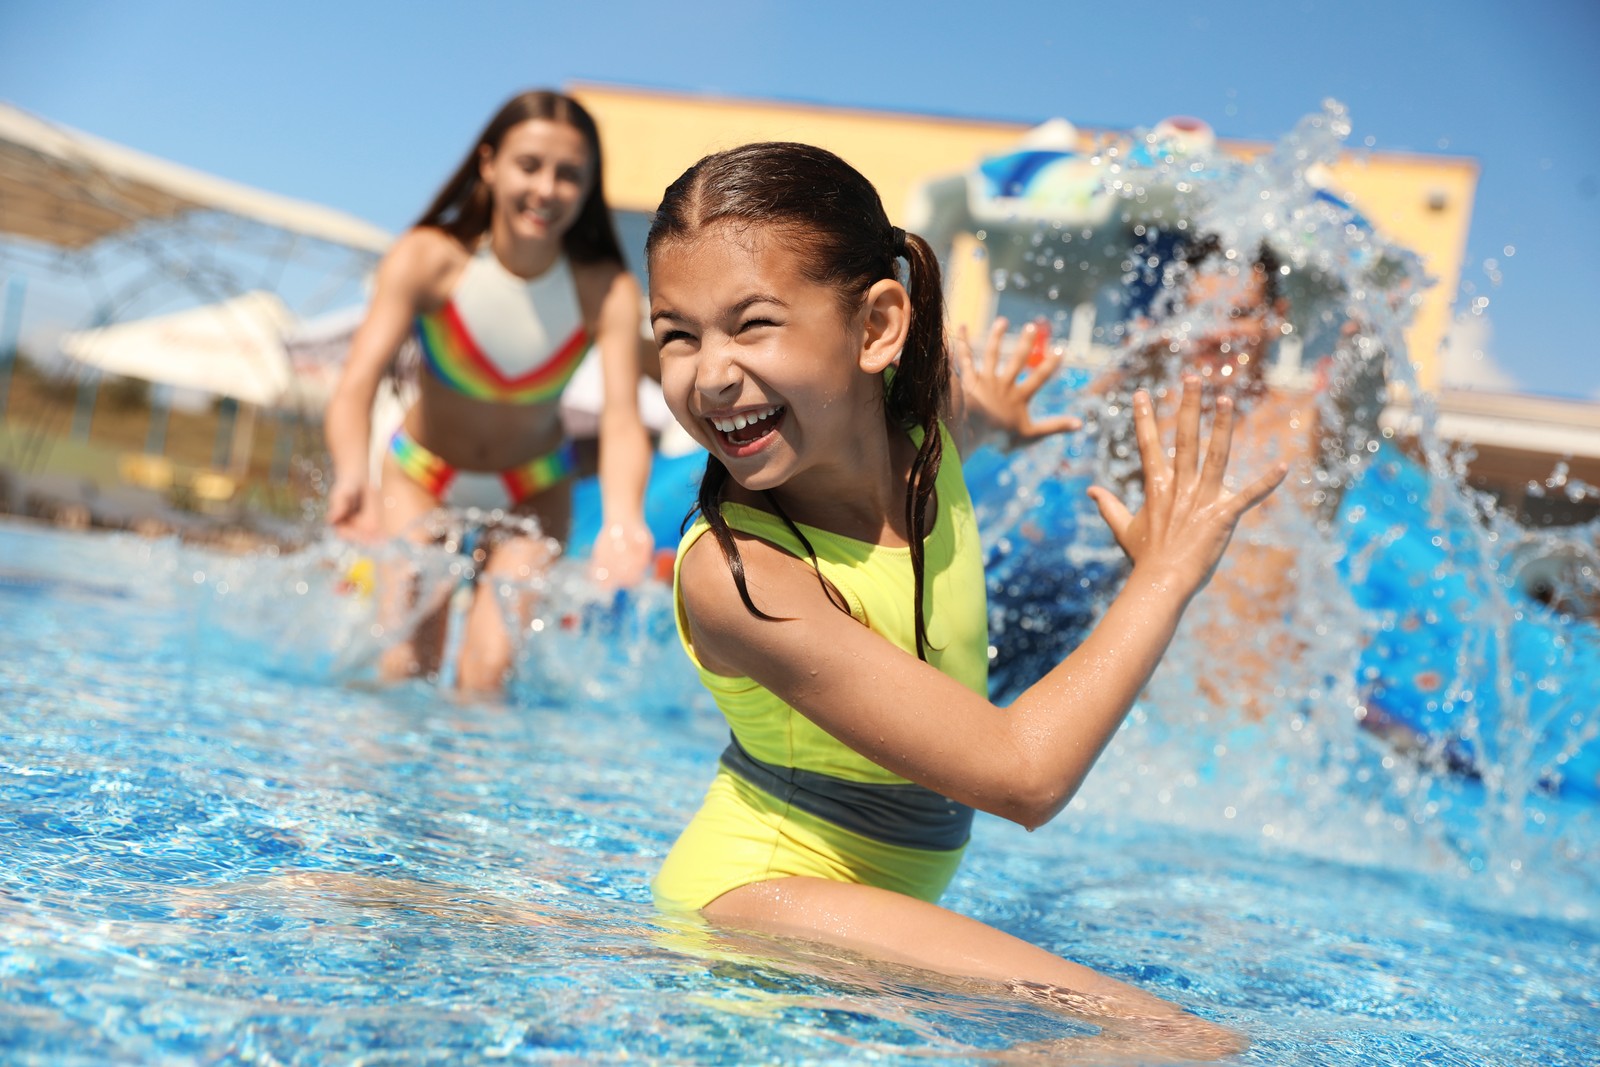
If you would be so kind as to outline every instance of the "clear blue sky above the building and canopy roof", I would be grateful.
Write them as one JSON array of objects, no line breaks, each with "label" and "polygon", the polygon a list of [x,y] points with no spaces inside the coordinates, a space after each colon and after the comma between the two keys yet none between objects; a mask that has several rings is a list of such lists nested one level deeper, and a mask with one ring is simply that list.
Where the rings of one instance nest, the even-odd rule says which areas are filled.
[{"label": "clear blue sky above the building and canopy roof", "polygon": [[1490,301],[1477,370],[1600,397],[1597,46],[1594,0],[6,0],[0,98],[398,230],[536,85],[1085,126],[1192,114],[1267,141],[1331,96],[1352,146],[1480,163],[1461,301]]}]

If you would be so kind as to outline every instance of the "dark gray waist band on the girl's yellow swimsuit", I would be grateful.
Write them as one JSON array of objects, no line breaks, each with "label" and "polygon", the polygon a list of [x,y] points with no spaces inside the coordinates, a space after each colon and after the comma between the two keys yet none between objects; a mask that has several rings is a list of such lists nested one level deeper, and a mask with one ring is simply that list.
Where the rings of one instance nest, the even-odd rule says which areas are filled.
[{"label": "dark gray waist band on the girl's yellow swimsuit", "polygon": [[733,737],[722,765],[778,800],[885,845],[947,851],[973,832],[973,809],[914,782],[853,782],[765,763]]}]

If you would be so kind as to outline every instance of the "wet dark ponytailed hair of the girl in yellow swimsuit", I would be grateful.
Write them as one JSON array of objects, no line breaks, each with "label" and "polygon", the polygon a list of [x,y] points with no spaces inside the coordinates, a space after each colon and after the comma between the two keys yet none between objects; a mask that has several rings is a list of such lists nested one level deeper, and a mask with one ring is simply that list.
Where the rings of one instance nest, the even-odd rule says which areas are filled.
[{"label": "wet dark ponytailed hair of the girl in yellow swimsuit", "polygon": [[[944,293],[939,261],[928,242],[890,224],[877,189],[856,168],[826,149],[808,144],[747,144],[707,155],[667,187],[645,242],[645,258],[654,264],[674,243],[690,240],[712,226],[757,227],[794,248],[810,282],[838,294],[843,315],[854,315],[867,290],[882,280],[904,280],[910,291],[910,330],[893,373],[885,374],[883,416],[893,434],[920,429],[923,437],[906,486],[906,528],[910,534],[912,574],[917,597],[917,654],[926,659],[928,629],[923,617],[923,539],[928,534],[930,501],[944,458],[939,418],[949,411],[950,362],[944,338]],[[901,278],[899,261],[907,275]],[[694,510],[706,517],[722,547],[739,597],[752,614],[771,619],[750,600],[739,547],[722,517],[728,469],[706,461]],[[768,502],[816,552],[798,526],[768,493]],[[693,518],[694,512],[690,512]],[[819,574],[821,581],[821,574]],[[822,582],[840,609],[837,590]]]}]

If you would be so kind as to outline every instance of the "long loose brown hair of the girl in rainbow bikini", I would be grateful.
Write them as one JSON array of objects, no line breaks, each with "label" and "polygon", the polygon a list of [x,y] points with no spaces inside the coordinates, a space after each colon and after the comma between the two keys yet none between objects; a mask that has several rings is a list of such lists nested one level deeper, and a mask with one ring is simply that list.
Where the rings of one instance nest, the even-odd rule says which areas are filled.
[{"label": "long loose brown hair of the girl in rainbow bikini", "polygon": [[490,229],[494,205],[490,189],[478,174],[478,155],[483,149],[499,152],[506,134],[531,118],[546,118],[571,126],[582,134],[594,165],[594,181],[589,195],[578,211],[571,229],[562,235],[562,251],[573,262],[614,262],[626,266],[622,245],[616,238],[611,208],[605,202],[605,166],[600,155],[600,130],[584,106],[571,96],[554,90],[530,90],[506,101],[490,123],[472,142],[472,150],[461,162],[450,181],[434,197],[416,226],[432,226],[445,230],[458,242],[472,248]]}]

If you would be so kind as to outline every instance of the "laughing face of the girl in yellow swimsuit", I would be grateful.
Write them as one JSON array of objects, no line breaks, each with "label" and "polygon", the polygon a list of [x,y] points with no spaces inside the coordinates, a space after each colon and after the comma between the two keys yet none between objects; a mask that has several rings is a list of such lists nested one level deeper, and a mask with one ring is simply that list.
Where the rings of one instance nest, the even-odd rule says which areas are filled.
[{"label": "laughing face of the girl in yellow swimsuit", "polygon": [[749,490],[848,469],[866,427],[883,426],[882,379],[861,368],[864,310],[846,315],[802,254],[782,230],[714,224],[650,262],[667,405]]}]

